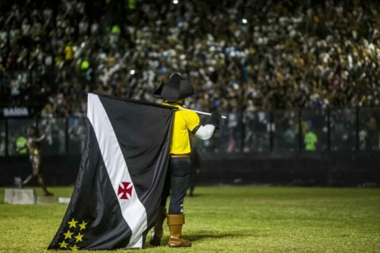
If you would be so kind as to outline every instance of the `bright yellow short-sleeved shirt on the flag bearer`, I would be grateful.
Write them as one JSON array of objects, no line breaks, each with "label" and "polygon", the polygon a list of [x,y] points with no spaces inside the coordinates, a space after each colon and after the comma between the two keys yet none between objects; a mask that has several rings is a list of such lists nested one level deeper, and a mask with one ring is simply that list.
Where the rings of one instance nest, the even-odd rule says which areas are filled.
[{"label": "bright yellow short-sleeved shirt on the flag bearer", "polygon": [[[181,108],[175,103],[163,103],[164,105]],[[170,154],[181,155],[191,152],[190,133],[195,127],[199,126],[199,116],[191,111],[178,110],[174,113],[173,135],[170,146]]]}]

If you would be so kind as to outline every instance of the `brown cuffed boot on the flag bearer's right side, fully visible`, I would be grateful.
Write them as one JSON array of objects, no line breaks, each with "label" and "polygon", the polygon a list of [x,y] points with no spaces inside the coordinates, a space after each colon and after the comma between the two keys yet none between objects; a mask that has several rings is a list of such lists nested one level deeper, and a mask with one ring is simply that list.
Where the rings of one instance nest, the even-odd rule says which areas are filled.
[{"label": "brown cuffed boot on the flag bearer's right side, fully visible", "polygon": [[185,224],[185,214],[168,214],[170,230],[169,247],[190,247],[189,240],[181,239],[182,225]]}]

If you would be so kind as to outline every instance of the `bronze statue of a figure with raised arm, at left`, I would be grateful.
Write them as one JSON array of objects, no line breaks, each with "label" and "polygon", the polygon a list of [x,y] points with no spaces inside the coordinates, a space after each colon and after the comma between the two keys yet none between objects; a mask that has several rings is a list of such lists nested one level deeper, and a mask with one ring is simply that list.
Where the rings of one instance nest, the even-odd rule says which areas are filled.
[{"label": "bronze statue of a figure with raised arm, at left", "polygon": [[21,189],[24,185],[28,184],[30,180],[37,176],[38,182],[40,183],[42,190],[44,191],[44,196],[52,196],[53,194],[47,191],[44,178],[41,170],[41,149],[40,142],[46,137],[46,134],[38,137],[37,129],[35,127],[28,127],[27,129],[27,141],[24,146],[18,147],[17,152],[24,149],[25,147],[29,151],[29,161],[33,167],[33,173],[30,174],[23,182],[19,182],[18,186]]}]

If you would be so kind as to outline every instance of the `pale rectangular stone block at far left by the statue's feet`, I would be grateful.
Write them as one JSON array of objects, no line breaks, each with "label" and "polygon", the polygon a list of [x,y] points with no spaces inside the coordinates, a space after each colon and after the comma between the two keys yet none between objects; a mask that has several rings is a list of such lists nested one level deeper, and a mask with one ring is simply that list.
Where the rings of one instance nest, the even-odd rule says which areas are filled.
[{"label": "pale rectangular stone block at far left by the statue's feet", "polygon": [[37,203],[37,195],[33,189],[5,189],[4,203],[31,205]]}]

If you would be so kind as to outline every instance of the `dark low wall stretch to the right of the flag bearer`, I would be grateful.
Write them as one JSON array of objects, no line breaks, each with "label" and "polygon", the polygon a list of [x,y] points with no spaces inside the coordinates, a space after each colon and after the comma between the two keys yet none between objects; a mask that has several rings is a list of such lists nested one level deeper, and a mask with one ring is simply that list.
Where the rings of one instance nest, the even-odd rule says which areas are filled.
[{"label": "dark low wall stretch to the right of the flag bearer", "polygon": [[268,153],[201,156],[199,184],[379,186],[380,153]]}]

